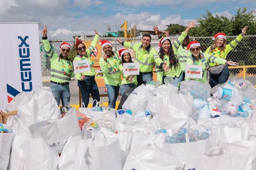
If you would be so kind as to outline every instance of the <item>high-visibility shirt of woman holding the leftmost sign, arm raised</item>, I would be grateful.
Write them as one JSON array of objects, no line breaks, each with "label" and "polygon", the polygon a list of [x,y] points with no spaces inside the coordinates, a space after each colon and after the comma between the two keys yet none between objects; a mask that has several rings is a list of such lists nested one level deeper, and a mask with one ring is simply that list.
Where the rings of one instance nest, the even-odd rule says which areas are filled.
[{"label": "high-visibility shirt of woman holding the leftmost sign, arm raised", "polygon": [[91,42],[91,45],[86,49],[86,56],[77,55],[74,58],[74,61],[89,60],[89,64],[90,64],[90,72],[76,73],[75,74],[76,79],[81,80],[81,75],[95,76],[94,62],[91,60],[90,54],[95,48],[98,38],[99,38],[99,35],[96,34]]}]

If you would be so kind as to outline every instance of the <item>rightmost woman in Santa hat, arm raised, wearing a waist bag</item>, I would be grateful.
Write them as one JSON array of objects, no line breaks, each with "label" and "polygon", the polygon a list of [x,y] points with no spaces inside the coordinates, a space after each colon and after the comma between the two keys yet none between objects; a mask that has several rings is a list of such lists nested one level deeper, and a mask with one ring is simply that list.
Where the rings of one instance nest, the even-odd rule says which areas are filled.
[{"label": "rightmost woman in Santa hat, arm raised, wearing a waist bag", "polygon": [[[230,42],[229,44],[226,43],[227,37],[225,33],[217,33],[213,36],[213,44],[206,49],[206,53],[213,55],[217,58],[226,59],[228,53],[234,49],[237,44],[242,40],[243,36],[245,35],[249,26],[245,26],[242,29],[242,33],[238,35],[235,40]],[[216,63],[209,63],[209,71],[210,71],[210,80],[209,84],[213,88],[217,84],[223,84],[227,82],[229,77],[229,70],[227,65],[219,65]]]}]

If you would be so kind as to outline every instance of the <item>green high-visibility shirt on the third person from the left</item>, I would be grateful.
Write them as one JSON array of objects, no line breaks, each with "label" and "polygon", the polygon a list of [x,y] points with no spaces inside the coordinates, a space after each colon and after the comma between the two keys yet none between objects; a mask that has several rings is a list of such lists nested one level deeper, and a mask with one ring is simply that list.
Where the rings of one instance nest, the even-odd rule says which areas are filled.
[{"label": "green high-visibility shirt on the third person from the left", "polygon": [[103,78],[105,84],[112,86],[120,86],[121,84],[121,72],[119,70],[120,59],[119,54],[116,51],[112,51],[112,57],[107,58],[107,62],[103,57],[100,58],[100,68],[103,72]]}]

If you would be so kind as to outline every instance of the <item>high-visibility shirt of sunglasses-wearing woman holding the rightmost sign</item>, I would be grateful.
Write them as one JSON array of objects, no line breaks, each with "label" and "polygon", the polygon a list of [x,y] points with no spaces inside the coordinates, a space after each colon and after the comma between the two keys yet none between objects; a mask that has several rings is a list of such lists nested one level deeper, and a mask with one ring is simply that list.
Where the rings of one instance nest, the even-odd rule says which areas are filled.
[{"label": "high-visibility shirt of sunglasses-wearing woman holding the rightmost sign", "polygon": [[[187,65],[202,65],[203,67],[203,77],[201,79],[194,79],[196,81],[205,83],[207,82],[207,68],[208,68],[208,63],[218,63],[218,64],[223,64],[225,65],[226,60],[223,58],[217,58],[213,55],[210,55],[208,53],[201,53],[201,57],[197,61],[194,56],[191,58],[187,59]],[[190,80],[191,78],[185,78],[186,80]]]}]

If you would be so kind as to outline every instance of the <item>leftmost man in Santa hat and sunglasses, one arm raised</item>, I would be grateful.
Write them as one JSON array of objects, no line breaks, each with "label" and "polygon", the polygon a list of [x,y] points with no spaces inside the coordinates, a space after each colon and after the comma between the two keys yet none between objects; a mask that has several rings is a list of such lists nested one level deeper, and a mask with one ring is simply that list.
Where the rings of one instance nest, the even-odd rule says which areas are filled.
[{"label": "leftmost man in Santa hat and sunglasses, one arm raised", "polygon": [[74,77],[73,64],[68,58],[69,52],[71,50],[71,45],[67,42],[63,42],[60,46],[59,54],[55,53],[50,46],[50,42],[47,39],[47,27],[42,30],[43,33],[43,45],[45,51],[50,58],[51,62],[51,81],[50,88],[52,94],[57,101],[58,105],[60,100],[62,100],[62,112],[67,112],[70,109],[70,91],[69,91],[69,81]]}]

